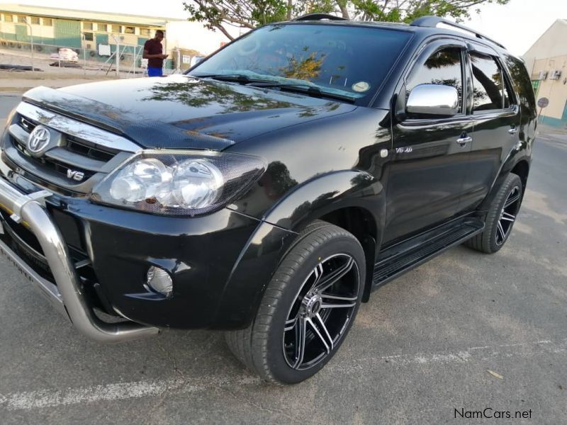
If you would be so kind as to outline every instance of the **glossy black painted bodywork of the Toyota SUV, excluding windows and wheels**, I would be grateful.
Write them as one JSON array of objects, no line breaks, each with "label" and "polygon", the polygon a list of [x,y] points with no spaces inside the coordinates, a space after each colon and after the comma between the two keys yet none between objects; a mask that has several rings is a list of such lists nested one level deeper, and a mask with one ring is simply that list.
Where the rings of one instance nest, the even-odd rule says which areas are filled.
[{"label": "glossy black painted bodywork of the Toyota SUV, excluding windows and wheels", "polygon": [[[507,172],[520,162],[529,167],[535,116],[531,86],[512,78],[520,93],[513,122],[509,113],[479,118],[470,110],[445,123],[401,121],[396,98],[424,46],[467,42],[451,31],[408,30],[414,36],[369,105],[187,76],[28,92],[27,101],[104,126],[142,147],[228,149],[255,154],[268,164],[245,196],[203,217],[157,217],[86,198],[53,196],[48,208],[76,223],[80,235],[67,232],[67,242],[80,244],[77,249],[91,258],[108,302],[136,322],[245,327],[296,234],[315,218],[357,211],[361,240],[374,245],[367,258],[372,268],[384,246],[459,212],[482,211]],[[498,52],[507,58],[507,67],[520,66]],[[519,147],[512,137],[500,145],[484,135],[488,128],[516,123]],[[472,133],[473,142],[470,149],[459,150],[452,140],[463,131]],[[412,152],[396,152],[404,147]],[[33,190],[5,164],[0,169],[14,184]],[[471,174],[476,179],[469,180]],[[443,193],[435,195],[438,187]],[[61,215],[54,217],[66,234],[68,223]],[[144,289],[150,264],[172,274],[172,299]],[[371,279],[371,273],[367,276]]]}]

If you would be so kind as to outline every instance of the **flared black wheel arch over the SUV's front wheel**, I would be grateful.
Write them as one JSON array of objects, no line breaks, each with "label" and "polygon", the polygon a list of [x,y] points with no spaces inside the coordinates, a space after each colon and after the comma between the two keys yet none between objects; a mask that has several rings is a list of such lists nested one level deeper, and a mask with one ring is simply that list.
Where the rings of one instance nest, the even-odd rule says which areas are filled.
[{"label": "flared black wheel arch over the SUV's front wheel", "polygon": [[[357,237],[366,258],[363,300],[368,300],[385,212],[382,183],[364,171],[335,171],[298,186],[266,212],[242,249],[225,284],[216,314],[218,321],[224,314],[226,323],[229,314],[234,328],[252,322],[281,260],[301,230],[314,220],[329,221]],[[245,299],[247,305],[235,305]]]}]

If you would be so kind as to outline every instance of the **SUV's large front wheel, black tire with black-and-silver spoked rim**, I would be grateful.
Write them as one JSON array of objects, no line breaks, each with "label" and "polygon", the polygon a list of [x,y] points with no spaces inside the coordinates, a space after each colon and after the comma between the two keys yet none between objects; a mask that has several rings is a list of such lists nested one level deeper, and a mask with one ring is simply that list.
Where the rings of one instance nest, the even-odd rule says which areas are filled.
[{"label": "SUV's large front wheel, black tire with black-and-silver spoked rim", "polygon": [[267,382],[288,385],[310,378],[352,327],[365,270],[364,251],[352,234],[320,220],[311,223],[271,278],[252,324],[226,332],[230,351]]}]

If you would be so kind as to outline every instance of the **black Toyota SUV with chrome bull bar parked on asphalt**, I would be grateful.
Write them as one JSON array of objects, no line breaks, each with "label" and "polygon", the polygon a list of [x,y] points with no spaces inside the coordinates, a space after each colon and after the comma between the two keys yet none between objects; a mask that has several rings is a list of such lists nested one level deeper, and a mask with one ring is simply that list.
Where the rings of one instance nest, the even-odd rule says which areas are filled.
[{"label": "black Toyota SUV with chrome bull bar parked on asphalt", "polygon": [[305,380],[373,290],[510,236],[534,92],[465,30],[311,15],[184,75],[30,90],[1,140],[0,252],[90,339],[223,329],[265,380]]}]

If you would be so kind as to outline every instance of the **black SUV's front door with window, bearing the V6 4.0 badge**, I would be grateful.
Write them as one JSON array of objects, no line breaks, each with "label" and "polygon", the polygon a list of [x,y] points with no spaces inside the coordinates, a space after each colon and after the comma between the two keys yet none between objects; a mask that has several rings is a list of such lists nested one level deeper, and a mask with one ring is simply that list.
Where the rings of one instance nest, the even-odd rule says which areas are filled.
[{"label": "black SUV's front door with window, bearing the V6 4.0 badge", "polygon": [[471,149],[473,125],[466,115],[464,43],[427,45],[405,79],[400,96],[420,84],[454,86],[460,112],[451,118],[407,115],[393,124],[393,159],[388,176],[388,205],[383,243],[405,239],[459,212],[459,200]]}]

